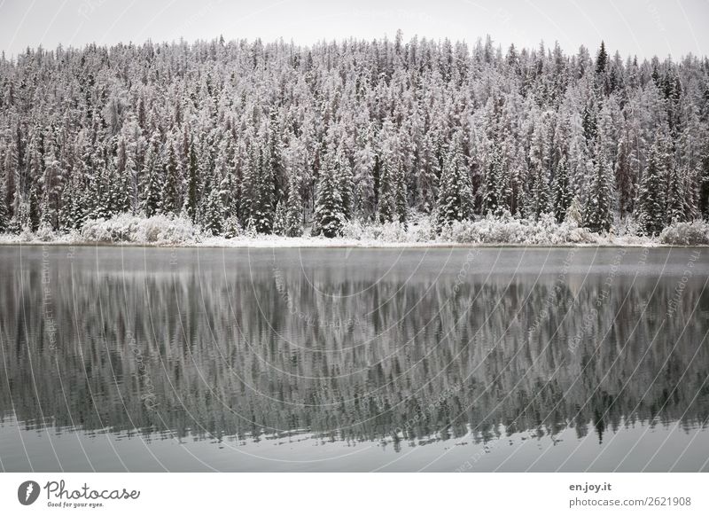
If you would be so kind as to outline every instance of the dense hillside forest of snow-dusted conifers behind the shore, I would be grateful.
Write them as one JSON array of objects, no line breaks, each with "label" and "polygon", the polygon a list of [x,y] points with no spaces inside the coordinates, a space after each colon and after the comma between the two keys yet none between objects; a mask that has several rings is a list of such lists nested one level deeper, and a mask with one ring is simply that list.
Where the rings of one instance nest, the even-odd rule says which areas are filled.
[{"label": "dense hillside forest of snow-dusted conifers behind the shore", "polygon": [[128,213],[226,237],[422,216],[657,235],[709,217],[709,59],[401,33],[27,49],[0,60],[0,179],[0,232]]}]

